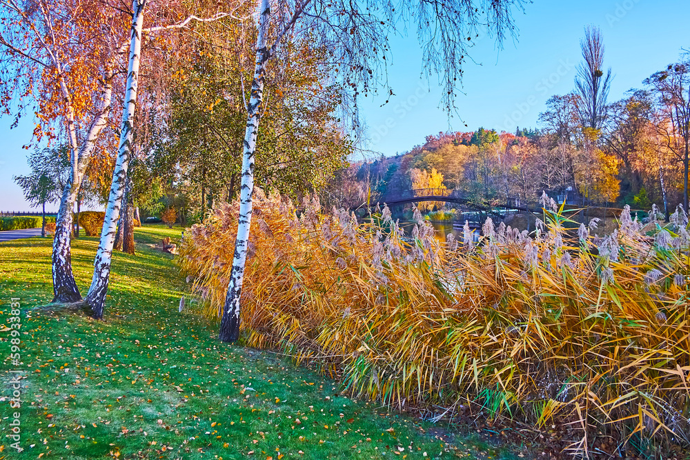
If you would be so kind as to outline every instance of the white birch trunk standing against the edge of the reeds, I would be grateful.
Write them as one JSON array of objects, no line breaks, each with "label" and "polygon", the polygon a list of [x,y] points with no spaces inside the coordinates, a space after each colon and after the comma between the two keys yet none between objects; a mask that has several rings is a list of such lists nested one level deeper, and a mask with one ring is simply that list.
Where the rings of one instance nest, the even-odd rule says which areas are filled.
[{"label": "white birch trunk standing against the edge of the reeds", "polygon": [[268,23],[270,5],[262,0],[259,6],[259,24],[257,31],[256,61],[254,77],[248,104],[247,126],[244,132],[244,152],[242,154],[242,183],[239,195],[239,219],[237,221],[237,239],[235,239],[235,256],[230,272],[228,294],[223,308],[219,339],[234,342],[239,339],[239,298],[242,294],[244,263],[247,259],[249,229],[252,222],[252,195],[254,191],[254,154],[256,150],[261,103],[264,97],[264,73],[268,61]]}]

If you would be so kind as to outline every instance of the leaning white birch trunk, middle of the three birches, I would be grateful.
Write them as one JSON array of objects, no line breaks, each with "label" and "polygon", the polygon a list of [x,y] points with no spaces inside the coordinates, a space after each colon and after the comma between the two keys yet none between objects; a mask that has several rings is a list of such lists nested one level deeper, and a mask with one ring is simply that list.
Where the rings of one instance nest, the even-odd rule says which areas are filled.
[{"label": "leaning white birch trunk, middle of the three birches", "polygon": [[108,197],[108,208],[106,208],[106,216],[103,220],[103,229],[101,230],[101,241],[99,242],[93,264],[93,278],[88,294],[86,294],[86,306],[96,319],[103,317],[106,292],[108,292],[108,280],[110,279],[112,244],[115,241],[117,219],[120,214],[122,195],[124,194],[127,179],[127,168],[132,154],[132,128],[134,127],[135,108],[137,106],[141,32],[144,26],[145,7],[146,0],[132,1],[130,54],[117,161],[115,162],[115,170],[112,172],[112,184]]}]

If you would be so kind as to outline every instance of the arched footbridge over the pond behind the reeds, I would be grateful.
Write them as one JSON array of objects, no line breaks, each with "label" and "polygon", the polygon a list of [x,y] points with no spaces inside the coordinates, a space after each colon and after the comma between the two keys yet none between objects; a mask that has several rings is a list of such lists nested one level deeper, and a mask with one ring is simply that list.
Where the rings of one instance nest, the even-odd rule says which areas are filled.
[{"label": "arched footbridge over the pond behind the reeds", "polygon": [[454,203],[464,208],[471,210],[487,212],[489,214],[502,215],[501,209],[516,210],[524,212],[533,212],[531,208],[526,206],[515,206],[513,204],[506,204],[501,206],[484,206],[476,203],[462,196],[461,190],[453,190],[450,188],[416,188],[413,190],[406,190],[401,193],[386,194],[377,199],[372,199],[367,206],[367,203],[362,203],[359,209],[375,208],[377,204],[395,206],[404,205],[408,203],[420,203],[421,201],[443,201],[445,203]]}]

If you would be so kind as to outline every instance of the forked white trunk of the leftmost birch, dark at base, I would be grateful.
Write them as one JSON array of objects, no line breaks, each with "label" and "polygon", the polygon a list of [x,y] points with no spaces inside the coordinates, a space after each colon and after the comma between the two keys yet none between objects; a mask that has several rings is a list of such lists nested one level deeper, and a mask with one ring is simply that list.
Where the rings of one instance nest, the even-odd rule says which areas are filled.
[{"label": "forked white trunk of the leftmost birch, dark at base", "polygon": [[[114,63],[110,63],[114,65]],[[55,237],[52,242],[52,286],[54,303],[72,303],[81,300],[77,282],[72,274],[72,252],[70,240],[72,238],[72,212],[81,180],[96,146],[96,141],[110,117],[110,103],[112,101],[112,66],[106,68],[103,75],[103,93],[101,94],[101,110],[92,121],[88,135],[77,150],[76,133],[70,133],[72,174],[70,175],[60,200],[60,208],[55,219]],[[69,103],[69,93],[63,88],[63,95]],[[70,104],[71,105],[71,104]],[[74,123],[68,123],[69,127]],[[74,135],[72,135],[74,134]]]}]

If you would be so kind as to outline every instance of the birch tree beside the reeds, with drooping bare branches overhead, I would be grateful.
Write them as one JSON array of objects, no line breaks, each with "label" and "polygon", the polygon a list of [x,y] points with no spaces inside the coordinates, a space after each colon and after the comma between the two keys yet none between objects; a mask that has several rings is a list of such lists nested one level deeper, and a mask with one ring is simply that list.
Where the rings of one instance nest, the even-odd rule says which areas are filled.
[{"label": "birch tree beside the reeds, with drooping bare branches overhead", "polygon": [[[239,338],[240,300],[252,219],[255,150],[264,101],[264,78],[270,59],[285,41],[308,38],[329,50],[337,63],[334,79],[341,79],[351,94],[356,112],[357,97],[380,87],[385,75],[388,35],[396,26],[416,20],[426,74],[439,74],[446,110],[455,108],[455,91],[469,47],[480,25],[488,26],[500,43],[506,31],[514,32],[512,11],[522,0],[259,0],[253,81],[247,104],[247,123],[242,152],[239,219],[233,266],[221,318],[221,341]],[[384,85],[385,86],[385,85]],[[387,88],[393,94],[393,92]],[[347,98],[345,98],[348,100]]]}]

